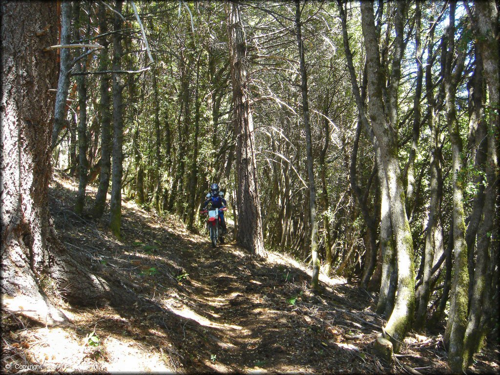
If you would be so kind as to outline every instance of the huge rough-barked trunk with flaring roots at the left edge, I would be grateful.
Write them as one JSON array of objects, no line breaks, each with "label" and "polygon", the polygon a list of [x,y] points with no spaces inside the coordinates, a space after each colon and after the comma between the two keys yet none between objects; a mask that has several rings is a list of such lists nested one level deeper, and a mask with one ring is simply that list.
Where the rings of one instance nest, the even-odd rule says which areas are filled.
[{"label": "huge rough-barked trunk with flaring roots at the left edge", "polygon": [[[50,117],[56,82],[53,45],[56,4],[1,3],[1,294],[4,308],[43,324],[65,317],[51,304],[38,280],[52,277],[69,290],[70,302],[95,305],[126,296],[88,273],[83,258],[68,254],[55,233],[48,210],[50,179]],[[46,30],[40,35],[40,30]]]}]

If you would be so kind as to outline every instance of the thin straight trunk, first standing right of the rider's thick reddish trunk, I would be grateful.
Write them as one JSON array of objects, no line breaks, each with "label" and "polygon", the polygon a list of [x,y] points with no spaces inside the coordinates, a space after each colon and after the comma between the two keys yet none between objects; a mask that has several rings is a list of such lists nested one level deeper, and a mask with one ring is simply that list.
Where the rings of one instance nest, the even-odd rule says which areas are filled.
[{"label": "thin straight trunk, first standing right of the rider's thick reddish trunk", "polygon": [[309,182],[309,226],[310,253],[312,261],[311,288],[319,290],[319,257],[317,251],[316,220],[316,185],[314,183],[314,166],[312,160],[311,126],[309,123],[309,103],[307,99],[307,71],[305,69],[304,47],[300,27],[300,1],[295,1],[295,28],[297,33],[298,53],[300,56],[300,90],[302,92],[302,115],[305,128],[305,150],[307,158],[307,176]]}]

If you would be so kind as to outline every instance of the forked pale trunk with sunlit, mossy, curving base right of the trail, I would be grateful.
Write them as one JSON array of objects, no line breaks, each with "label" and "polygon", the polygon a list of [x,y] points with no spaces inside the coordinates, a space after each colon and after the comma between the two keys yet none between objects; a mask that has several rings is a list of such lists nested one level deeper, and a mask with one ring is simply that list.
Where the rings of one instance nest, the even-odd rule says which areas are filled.
[{"label": "forked pale trunk with sunlit, mossy, curving base right of the trail", "polygon": [[[390,199],[390,217],[396,245],[397,295],[394,309],[385,326],[395,350],[410,327],[414,309],[415,272],[413,267],[413,241],[405,211],[404,189],[397,160],[397,87],[400,78],[400,60],[403,46],[404,3],[398,2],[394,17],[395,40],[388,102],[384,103],[382,90],[384,77],[373,16],[373,3],[361,1],[361,25],[366,45],[368,66],[369,113],[373,131],[380,144]],[[389,123],[386,122],[386,116]]]}]

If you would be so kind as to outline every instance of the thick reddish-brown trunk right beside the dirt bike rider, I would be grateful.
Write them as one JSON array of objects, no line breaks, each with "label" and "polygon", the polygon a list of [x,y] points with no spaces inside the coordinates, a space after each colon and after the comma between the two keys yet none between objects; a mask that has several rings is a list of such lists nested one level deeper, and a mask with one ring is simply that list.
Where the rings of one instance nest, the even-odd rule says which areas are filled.
[{"label": "thick reddish-brown trunk right beside the dirt bike rider", "polygon": [[229,58],[231,64],[236,171],[238,229],[236,240],[252,254],[265,256],[258,194],[257,162],[246,72],[246,40],[239,6],[229,6]]}]

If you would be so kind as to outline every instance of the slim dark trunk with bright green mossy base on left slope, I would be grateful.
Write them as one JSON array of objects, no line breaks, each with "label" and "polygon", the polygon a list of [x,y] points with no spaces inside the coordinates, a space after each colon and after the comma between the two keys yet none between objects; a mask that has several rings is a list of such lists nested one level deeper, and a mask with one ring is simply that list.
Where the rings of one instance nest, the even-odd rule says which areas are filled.
[{"label": "slim dark trunk with bright green mossy base on left slope", "polygon": [[[121,13],[123,1],[116,0],[114,10]],[[122,25],[119,14],[114,15],[113,30],[120,30]],[[113,70],[120,70],[120,60],[122,55],[121,35],[113,34]],[[122,108],[122,89],[119,75],[112,74],[113,90],[113,166],[112,166],[112,184],[111,200],[109,209],[109,228],[116,237],[120,237],[121,226],[121,177],[123,175],[123,108]]]}]

